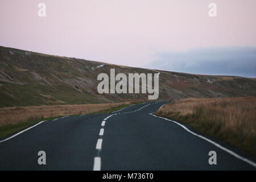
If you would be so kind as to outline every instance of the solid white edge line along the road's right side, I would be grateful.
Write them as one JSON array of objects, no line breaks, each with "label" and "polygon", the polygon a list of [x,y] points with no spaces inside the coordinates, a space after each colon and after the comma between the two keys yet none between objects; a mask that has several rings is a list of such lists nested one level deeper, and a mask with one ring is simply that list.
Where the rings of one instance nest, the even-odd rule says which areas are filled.
[{"label": "solid white edge line along the road's right side", "polygon": [[150,113],[150,115],[154,116],[154,117],[157,117],[157,118],[162,118],[162,119],[166,119],[167,121],[171,121],[171,122],[174,122],[175,124],[183,127],[184,130],[188,131],[189,133],[191,133],[192,135],[195,135],[196,137],[199,137],[201,139],[204,139],[206,140],[207,142],[209,143],[212,143],[214,146],[220,148],[221,150],[224,150],[225,152],[228,152],[230,155],[233,155],[235,158],[237,159],[240,159],[242,160],[243,162],[246,162],[247,164],[250,164],[251,166],[255,167],[256,168],[256,163],[254,163],[253,161],[249,160],[249,159],[246,159],[246,158],[243,158],[242,156],[236,154],[235,152],[229,150],[228,148],[225,148],[223,146],[221,146],[220,144],[216,143],[216,142],[213,142],[212,140],[208,139],[208,138],[205,138],[199,134],[196,134],[196,133],[193,133],[193,131],[189,130],[187,127],[185,127],[184,125],[181,125],[180,123],[176,122],[176,121],[172,121],[171,119],[167,119],[167,118],[163,118],[163,117],[159,117],[159,116],[156,116],[154,115],[153,113]]}]

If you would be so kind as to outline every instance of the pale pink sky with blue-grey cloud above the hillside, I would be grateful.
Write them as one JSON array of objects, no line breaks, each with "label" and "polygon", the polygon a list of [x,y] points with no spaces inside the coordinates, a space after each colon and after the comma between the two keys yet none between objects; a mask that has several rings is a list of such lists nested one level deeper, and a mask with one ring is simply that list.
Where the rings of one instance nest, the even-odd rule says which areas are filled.
[{"label": "pale pink sky with blue-grey cloud above the hillside", "polygon": [[[38,4],[46,4],[46,17]],[[217,17],[209,17],[209,3]],[[1,0],[0,46],[133,67],[256,77],[255,0]]]}]

